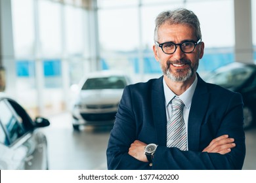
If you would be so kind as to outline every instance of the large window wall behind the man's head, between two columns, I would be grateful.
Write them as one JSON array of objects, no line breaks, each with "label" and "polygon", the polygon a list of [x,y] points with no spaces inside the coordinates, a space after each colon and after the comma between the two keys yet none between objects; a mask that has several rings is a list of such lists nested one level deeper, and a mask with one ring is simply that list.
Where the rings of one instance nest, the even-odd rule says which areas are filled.
[{"label": "large window wall behind the man's head, between two columns", "polygon": [[160,76],[161,70],[152,52],[154,20],[161,11],[178,7],[193,10],[200,19],[205,42],[205,56],[198,70],[202,75],[234,61],[232,0],[118,2],[98,0],[102,69],[123,69],[135,76],[135,81]]}]

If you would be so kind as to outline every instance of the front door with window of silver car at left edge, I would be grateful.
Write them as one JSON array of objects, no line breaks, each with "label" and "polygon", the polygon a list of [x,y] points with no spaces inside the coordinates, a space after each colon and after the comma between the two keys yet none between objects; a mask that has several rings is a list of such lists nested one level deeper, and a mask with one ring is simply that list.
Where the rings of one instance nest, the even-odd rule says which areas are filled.
[{"label": "front door with window of silver car at left edge", "polygon": [[28,148],[22,145],[22,141],[26,141],[26,131],[7,99],[0,100],[0,111],[1,168],[24,169]]}]

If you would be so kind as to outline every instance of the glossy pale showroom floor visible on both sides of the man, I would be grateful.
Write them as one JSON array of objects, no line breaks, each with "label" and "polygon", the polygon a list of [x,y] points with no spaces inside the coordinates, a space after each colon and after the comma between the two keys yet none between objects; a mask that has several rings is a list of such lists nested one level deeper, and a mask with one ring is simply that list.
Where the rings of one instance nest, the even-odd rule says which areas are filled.
[{"label": "glossy pale showroom floor visible on both sides of the man", "polygon": [[[106,147],[111,127],[84,127],[74,131],[69,113],[49,118],[51,126],[42,129],[49,144],[49,169],[106,169]],[[244,168],[256,169],[256,127],[245,131],[247,154]]]}]

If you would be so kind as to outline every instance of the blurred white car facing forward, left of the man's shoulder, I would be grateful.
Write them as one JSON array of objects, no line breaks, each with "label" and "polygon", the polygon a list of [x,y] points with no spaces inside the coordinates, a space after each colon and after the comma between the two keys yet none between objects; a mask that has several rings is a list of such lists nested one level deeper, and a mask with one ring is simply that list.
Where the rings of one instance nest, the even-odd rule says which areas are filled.
[{"label": "blurred white car facing forward, left of the man's shoulder", "polygon": [[128,84],[128,76],[112,71],[99,71],[83,78],[72,108],[74,129],[79,130],[79,125],[114,124],[123,88]]}]

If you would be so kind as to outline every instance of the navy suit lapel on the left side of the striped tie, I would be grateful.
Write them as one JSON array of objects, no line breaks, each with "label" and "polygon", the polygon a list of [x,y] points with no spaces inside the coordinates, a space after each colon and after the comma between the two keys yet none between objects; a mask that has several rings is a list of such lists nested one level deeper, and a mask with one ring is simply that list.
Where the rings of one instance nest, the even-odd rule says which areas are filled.
[{"label": "navy suit lapel on the left side of the striped tie", "polygon": [[166,146],[166,109],[163,93],[163,76],[152,84],[152,112],[158,144]]}]

